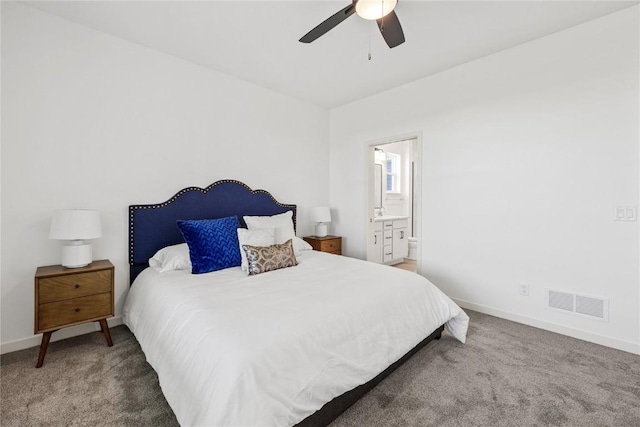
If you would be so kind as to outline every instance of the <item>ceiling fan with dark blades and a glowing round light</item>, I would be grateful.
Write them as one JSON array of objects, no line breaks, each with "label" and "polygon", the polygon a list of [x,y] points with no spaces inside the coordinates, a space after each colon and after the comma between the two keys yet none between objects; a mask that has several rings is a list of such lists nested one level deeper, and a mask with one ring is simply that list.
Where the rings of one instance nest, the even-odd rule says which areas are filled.
[{"label": "ceiling fan with dark blades and a glowing round light", "polygon": [[397,3],[398,0],[352,0],[350,5],[333,14],[302,36],[300,41],[302,43],[311,43],[354,13],[357,13],[361,18],[375,20],[378,23],[378,28],[384,41],[387,42],[390,48],[394,48],[404,43],[402,26],[393,10]]}]

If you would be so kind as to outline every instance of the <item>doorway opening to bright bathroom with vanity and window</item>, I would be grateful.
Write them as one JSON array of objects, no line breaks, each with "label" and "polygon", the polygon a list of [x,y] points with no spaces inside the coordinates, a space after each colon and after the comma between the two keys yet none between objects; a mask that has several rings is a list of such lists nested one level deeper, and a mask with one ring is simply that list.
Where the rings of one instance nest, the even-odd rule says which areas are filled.
[{"label": "doorway opening to bright bathroom with vanity and window", "polygon": [[420,270],[419,134],[367,145],[367,260]]}]

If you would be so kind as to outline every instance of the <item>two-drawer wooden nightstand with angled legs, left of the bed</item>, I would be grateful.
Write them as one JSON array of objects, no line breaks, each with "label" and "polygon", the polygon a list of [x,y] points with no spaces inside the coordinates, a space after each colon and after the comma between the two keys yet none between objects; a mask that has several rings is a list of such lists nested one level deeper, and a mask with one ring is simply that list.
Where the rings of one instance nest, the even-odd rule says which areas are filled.
[{"label": "two-drawer wooden nightstand with angled legs, left of the bed", "polygon": [[61,328],[100,322],[109,347],[113,345],[107,318],[113,316],[113,264],[93,261],[86,267],[38,267],[35,275],[34,333],[42,333],[36,368],[42,366],[51,334]]}]

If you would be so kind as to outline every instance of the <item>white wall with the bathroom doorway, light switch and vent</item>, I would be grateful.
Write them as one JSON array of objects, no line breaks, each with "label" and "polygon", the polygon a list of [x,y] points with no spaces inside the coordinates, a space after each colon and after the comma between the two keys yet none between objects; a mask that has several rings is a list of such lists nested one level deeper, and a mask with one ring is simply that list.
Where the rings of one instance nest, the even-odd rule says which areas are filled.
[{"label": "white wall with the bathroom doorway, light switch and vent", "polygon": [[[612,220],[640,190],[638,34],[634,7],[332,110],[345,253],[365,257],[367,144],[422,132],[423,274],[466,307],[640,352],[638,223]],[[609,322],[545,309],[547,287],[609,298]]]}]

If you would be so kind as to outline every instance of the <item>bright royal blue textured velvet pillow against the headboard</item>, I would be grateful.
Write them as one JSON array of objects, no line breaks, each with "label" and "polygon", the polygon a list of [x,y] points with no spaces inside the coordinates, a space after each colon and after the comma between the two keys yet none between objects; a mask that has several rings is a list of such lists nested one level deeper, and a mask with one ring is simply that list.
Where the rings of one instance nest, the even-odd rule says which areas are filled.
[{"label": "bright royal blue textured velvet pillow against the headboard", "polygon": [[178,221],[189,246],[191,273],[200,274],[240,265],[238,218]]}]

